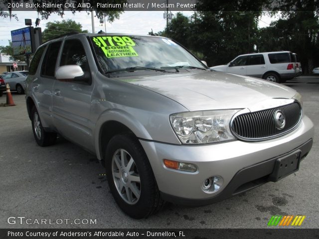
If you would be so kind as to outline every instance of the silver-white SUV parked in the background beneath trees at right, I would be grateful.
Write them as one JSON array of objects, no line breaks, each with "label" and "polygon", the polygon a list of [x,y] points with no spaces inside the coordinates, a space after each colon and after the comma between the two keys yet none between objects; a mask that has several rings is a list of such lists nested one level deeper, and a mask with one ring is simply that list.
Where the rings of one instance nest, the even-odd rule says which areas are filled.
[{"label": "silver-white SUV parked in the background beneath trees at right", "polygon": [[253,76],[277,83],[297,76],[295,57],[290,51],[240,55],[226,65],[214,66],[210,69]]}]

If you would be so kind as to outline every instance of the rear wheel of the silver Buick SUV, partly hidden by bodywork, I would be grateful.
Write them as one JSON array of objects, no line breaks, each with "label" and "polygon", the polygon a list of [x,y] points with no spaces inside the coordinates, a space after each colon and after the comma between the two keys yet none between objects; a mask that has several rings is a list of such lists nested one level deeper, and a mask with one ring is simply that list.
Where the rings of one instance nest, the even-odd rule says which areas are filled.
[{"label": "rear wheel of the silver Buick SUV, partly hidden by bodywork", "polygon": [[57,134],[44,131],[41,119],[35,107],[31,110],[31,122],[33,135],[39,146],[44,147],[55,143]]}]

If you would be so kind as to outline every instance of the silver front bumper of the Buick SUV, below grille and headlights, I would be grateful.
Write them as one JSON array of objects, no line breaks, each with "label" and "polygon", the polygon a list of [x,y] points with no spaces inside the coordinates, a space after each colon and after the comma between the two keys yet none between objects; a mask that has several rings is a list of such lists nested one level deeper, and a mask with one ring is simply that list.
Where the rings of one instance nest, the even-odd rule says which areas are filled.
[{"label": "silver front bumper of the Buick SUV, below grille and headlights", "polygon": [[[150,160],[163,199],[186,205],[205,205],[247,191],[268,181],[279,156],[300,149],[304,158],[312,146],[314,124],[304,116],[292,132],[271,140],[210,145],[172,145],[140,140]],[[194,173],[168,169],[163,159],[196,165]],[[202,190],[202,182],[221,176],[223,185],[214,193]]]}]

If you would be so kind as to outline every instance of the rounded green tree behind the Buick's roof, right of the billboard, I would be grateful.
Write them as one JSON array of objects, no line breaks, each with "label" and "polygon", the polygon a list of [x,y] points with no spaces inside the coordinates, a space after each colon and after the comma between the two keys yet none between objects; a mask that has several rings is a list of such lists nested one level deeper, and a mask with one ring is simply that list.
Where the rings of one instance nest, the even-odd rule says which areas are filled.
[{"label": "rounded green tree behind the Buick's roof, right of the billboard", "polygon": [[48,41],[52,38],[55,38],[59,35],[68,33],[68,32],[88,32],[87,30],[82,30],[82,25],[76,23],[71,19],[54,21],[46,23],[46,28],[42,32],[42,41]]}]

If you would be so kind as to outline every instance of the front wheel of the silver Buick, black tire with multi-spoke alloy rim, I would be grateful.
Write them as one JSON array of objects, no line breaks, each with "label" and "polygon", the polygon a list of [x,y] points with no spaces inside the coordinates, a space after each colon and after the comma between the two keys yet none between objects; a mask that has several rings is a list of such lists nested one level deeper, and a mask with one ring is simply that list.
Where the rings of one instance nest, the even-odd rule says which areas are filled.
[{"label": "front wheel of the silver Buick, black tire with multi-spoke alloy rim", "polygon": [[111,138],[105,158],[110,190],[123,212],[141,219],[160,210],[163,201],[149,159],[134,135]]}]

